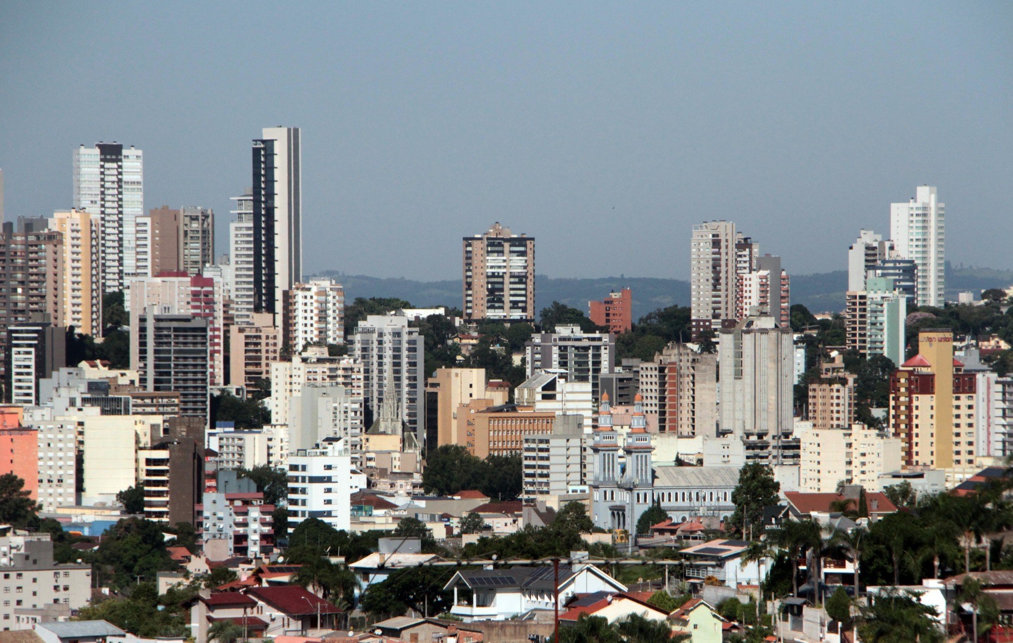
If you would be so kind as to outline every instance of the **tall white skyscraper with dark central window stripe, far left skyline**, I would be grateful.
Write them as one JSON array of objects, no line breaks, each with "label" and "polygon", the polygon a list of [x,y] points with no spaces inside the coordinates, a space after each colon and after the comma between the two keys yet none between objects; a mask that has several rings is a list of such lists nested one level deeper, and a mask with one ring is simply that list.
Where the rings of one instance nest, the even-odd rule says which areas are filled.
[{"label": "tall white skyscraper with dark central window stripe, far left skyline", "polygon": [[[124,291],[137,269],[137,218],[144,215],[141,150],[120,143],[74,150],[74,208],[98,217],[102,293]],[[145,275],[140,275],[145,276]]]}]

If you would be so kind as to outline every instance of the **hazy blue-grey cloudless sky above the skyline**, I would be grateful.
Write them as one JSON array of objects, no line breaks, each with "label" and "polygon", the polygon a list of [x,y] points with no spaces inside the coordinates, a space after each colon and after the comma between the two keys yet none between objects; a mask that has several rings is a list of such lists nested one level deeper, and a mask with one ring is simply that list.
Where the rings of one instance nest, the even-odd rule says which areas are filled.
[{"label": "hazy blue-grey cloudless sky above the skyline", "polygon": [[0,4],[7,218],[71,206],[71,150],[145,154],[145,207],[227,246],[260,128],[303,135],[305,268],[689,272],[731,219],[796,273],[939,186],[947,258],[1013,267],[1013,3]]}]

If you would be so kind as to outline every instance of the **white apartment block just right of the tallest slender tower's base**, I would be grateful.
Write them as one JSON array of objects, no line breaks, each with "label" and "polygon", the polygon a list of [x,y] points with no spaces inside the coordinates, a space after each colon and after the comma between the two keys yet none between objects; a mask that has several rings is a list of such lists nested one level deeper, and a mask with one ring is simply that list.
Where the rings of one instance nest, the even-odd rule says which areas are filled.
[{"label": "white apartment block just right of the tallest slender tower's base", "polygon": [[294,285],[285,293],[283,330],[293,352],[310,344],[343,344],[344,289],[326,277]]}]

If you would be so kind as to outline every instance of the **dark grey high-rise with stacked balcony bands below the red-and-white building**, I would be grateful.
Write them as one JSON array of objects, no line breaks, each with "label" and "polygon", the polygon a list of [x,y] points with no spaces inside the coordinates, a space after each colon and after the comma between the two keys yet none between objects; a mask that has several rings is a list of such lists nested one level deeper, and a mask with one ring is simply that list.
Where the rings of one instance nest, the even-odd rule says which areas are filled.
[{"label": "dark grey high-rise with stacked balcony bands below the red-and-white building", "polygon": [[138,385],[145,391],[179,393],[179,413],[183,417],[208,418],[209,323],[191,315],[158,314],[157,307],[137,314],[137,358],[131,369],[138,373]]}]

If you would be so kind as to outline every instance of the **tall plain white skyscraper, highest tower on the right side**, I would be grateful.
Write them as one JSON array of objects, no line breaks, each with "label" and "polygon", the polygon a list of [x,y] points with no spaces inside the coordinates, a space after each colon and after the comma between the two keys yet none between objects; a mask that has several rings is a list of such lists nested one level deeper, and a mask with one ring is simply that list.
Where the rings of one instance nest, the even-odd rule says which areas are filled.
[{"label": "tall plain white skyscraper, highest tower on the right side", "polygon": [[890,237],[898,255],[918,266],[916,303],[942,306],[946,288],[945,206],[934,185],[920,185],[906,204],[891,204]]}]

